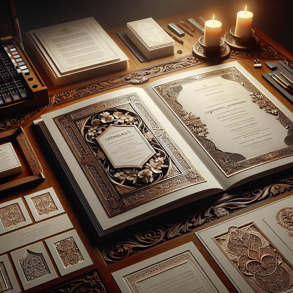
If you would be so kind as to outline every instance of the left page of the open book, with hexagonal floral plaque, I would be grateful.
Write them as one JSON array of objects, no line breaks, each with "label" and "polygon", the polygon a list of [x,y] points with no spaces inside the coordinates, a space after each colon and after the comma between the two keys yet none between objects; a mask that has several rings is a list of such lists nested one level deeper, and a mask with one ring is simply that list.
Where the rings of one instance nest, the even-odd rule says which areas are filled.
[{"label": "left page of the open book, with hexagonal floral plaque", "polygon": [[140,88],[42,118],[103,230],[222,190]]}]

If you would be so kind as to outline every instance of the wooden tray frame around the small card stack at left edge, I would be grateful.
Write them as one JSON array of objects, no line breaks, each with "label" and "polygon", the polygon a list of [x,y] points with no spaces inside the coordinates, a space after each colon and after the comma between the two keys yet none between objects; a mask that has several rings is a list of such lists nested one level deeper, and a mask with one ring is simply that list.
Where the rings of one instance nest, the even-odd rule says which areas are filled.
[{"label": "wooden tray frame around the small card stack at left edge", "polygon": [[38,161],[38,158],[32,146],[30,145],[30,142],[28,141],[27,136],[23,132],[22,127],[18,127],[16,129],[12,129],[12,130],[8,130],[8,131],[0,133],[0,139],[1,140],[7,139],[11,135],[14,135],[16,137],[17,142],[19,143],[23,151],[25,159],[27,160],[28,165],[30,167],[30,171],[33,173],[33,175],[1,184],[0,191],[6,190],[12,187],[20,186],[30,182],[37,183],[37,182],[42,182],[43,180],[45,180],[40,162]]}]

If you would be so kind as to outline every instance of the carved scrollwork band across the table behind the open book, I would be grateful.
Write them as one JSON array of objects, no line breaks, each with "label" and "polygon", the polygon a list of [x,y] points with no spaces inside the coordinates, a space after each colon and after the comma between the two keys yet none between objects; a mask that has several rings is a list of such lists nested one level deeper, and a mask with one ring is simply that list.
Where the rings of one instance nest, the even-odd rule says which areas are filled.
[{"label": "carved scrollwork band across the table behind the open book", "polygon": [[[234,59],[275,59],[284,61],[289,67],[293,69],[293,61],[285,57],[270,45],[264,45],[258,52],[239,52],[230,51],[230,58]],[[148,67],[143,67],[137,71],[133,71],[129,74],[120,75],[112,79],[100,81],[95,84],[83,86],[80,88],[70,89],[62,93],[57,93],[50,96],[50,104],[37,108],[30,112],[24,112],[21,115],[8,118],[0,122],[0,131],[17,128],[21,125],[26,125],[30,121],[34,120],[39,115],[45,113],[53,106],[64,103],[69,100],[82,98],[93,93],[99,93],[106,91],[110,88],[116,88],[127,84],[142,84],[149,81],[149,79],[157,76],[161,76],[167,73],[176,72],[180,69],[193,67],[204,63],[204,61],[195,58],[193,55],[187,55],[184,57],[172,59],[166,62],[157,63]]]}]

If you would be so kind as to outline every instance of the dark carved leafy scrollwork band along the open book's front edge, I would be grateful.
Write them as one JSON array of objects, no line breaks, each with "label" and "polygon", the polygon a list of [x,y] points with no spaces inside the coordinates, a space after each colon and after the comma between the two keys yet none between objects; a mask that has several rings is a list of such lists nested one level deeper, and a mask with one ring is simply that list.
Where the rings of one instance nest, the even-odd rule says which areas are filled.
[{"label": "dark carved leafy scrollwork band along the open book's front edge", "polygon": [[101,255],[107,264],[115,263],[171,239],[192,233],[195,228],[202,225],[216,222],[252,205],[289,193],[293,190],[293,176],[290,172],[292,173],[292,169],[288,169],[287,174],[290,175],[285,178],[268,178],[270,184],[263,184],[243,193],[219,194],[217,200],[203,209],[195,210],[194,214],[176,224],[171,224],[172,219],[168,219],[167,223],[160,223],[152,229],[136,231],[133,235],[126,235],[127,238],[116,239],[114,243],[99,248]]}]

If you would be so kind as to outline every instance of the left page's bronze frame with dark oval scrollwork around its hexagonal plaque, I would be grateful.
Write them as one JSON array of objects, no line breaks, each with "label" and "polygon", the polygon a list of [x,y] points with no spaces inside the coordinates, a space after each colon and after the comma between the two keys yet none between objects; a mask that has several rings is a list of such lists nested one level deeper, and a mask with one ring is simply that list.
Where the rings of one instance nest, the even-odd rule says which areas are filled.
[{"label": "left page's bronze frame with dark oval scrollwork around its hexagonal plaque", "polygon": [[[163,175],[159,173],[158,179],[153,181],[148,178],[149,182],[147,180],[145,182],[148,184],[144,185],[137,185],[134,182],[127,183],[124,177],[127,171],[131,170],[112,170],[111,164],[99,144],[93,145],[94,140],[91,141],[88,138],[89,132],[92,137],[93,133],[104,131],[109,127],[109,123],[114,121],[113,115],[118,115],[117,113],[123,114],[123,117],[132,116],[134,119],[132,121],[135,121],[133,125],[139,128],[156,150],[156,154],[152,157],[153,162],[160,160],[162,156],[163,162],[168,162],[167,165],[156,163],[156,166],[168,167],[165,168]],[[105,115],[113,116],[113,120],[110,117],[107,118],[108,122],[105,122],[105,118],[102,118]],[[97,122],[98,117],[101,118],[101,129],[100,122]],[[54,120],[110,217],[159,196],[206,181],[135,92],[88,105],[54,117]],[[92,121],[89,124],[92,127],[86,128],[89,121]],[[99,124],[95,125],[95,123]],[[95,129],[95,126],[98,128]],[[153,170],[156,166],[152,166],[151,162],[149,165],[151,165],[149,168],[152,172],[156,172]],[[115,177],[121,181],[115,180]]]}]

